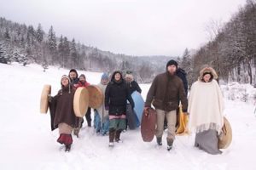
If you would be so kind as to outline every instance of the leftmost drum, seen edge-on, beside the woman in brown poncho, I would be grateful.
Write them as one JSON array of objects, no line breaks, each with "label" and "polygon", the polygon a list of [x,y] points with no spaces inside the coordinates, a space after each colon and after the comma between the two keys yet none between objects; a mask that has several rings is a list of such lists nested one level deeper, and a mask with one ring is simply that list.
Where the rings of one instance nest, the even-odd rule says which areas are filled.
[{"label": "leftmost drum, seen edge-on, beside the woman in brown poncho", "polygon": [[51,86],[50,85],[44,85],[44,88],[42,90],[41,99],[40,99],[40,113],[46,114],[49,108],[48,105],[48,95],[51,92]]}]

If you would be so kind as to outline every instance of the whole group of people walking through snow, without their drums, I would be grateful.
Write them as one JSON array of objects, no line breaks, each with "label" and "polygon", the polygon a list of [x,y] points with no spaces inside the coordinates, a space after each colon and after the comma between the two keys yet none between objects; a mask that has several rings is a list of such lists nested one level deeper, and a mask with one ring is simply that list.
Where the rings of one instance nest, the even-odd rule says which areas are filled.
[{"label": "whole group of people walking through snow, without their drums", "polygon": [[[162,145],[162,136],[166,119],[167,150],[172,150],[177,125],[177,108],[182,106],[185,114],[189,114],[189,129],[195,132],[195,147],[210,154],[220,154],[218,150],[218,136],[224,124],[224,102],[217,82],[217,74],[211,67],[205,67],[200,77],[193,83],[189,99],[187,98],[186,83],[178,75],[177,61],[171,59],[166,64],[166,71],[154,77],[148,90],[144,113],[154,106],[157,116],[156,143]],[[76,88],[89,86],[84,75],[78,77],[77,71],[72,69],[69,76],[61,77],[61,90],[54,97],[49,98],[52,130],[59,128],[60,137],[57,141],[65,144],[70,150],[73,143],[72,132],[79,137],[79,129],[84,120],[73,113],[73,96]],[[121,71],[114,71],[110,80],[108,74],[103,73],[98,84],[104,94],[103,104],[94,110],[94,127],[97,133],[108,134],[109,146],[120,141],[120,134],[127,126],[127,100],[132,108],[134,101],[131,93],[142,89],[134,81],[131,72],[126,72],[123,78]],[[90,109],[86,113],[86,121],[91,126]],[[129,123],[129,122],[128,122]]]}]

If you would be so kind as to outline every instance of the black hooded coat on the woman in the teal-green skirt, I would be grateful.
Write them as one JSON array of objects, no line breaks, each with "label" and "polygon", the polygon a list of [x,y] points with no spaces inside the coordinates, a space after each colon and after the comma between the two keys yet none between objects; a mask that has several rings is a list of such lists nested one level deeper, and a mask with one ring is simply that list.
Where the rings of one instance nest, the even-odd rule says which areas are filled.
[{"label": "black hooded coat on the woman in the teal-green skirt", "polygon": [[[119,82],[114,80],[114,75],[119,73],[121,79]],[[113,72],[111,82],[108,83],[105,92],[105,108],[109,107],[108,114],[113,116],[125,115],[127,99],[134,108],[134,102],[131,98],[129,88],[127,87],[122,74],[119,71]]]}]

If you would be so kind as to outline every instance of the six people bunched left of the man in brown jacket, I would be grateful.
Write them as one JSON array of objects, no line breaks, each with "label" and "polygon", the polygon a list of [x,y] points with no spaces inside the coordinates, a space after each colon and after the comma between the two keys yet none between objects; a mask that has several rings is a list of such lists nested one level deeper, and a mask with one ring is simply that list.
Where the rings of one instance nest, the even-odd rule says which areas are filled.
[{"label": "six people bunched left of the man in brown jacket", "polygon": [[[60,137],[57,142],[65,145],[69,151],[73,144],[72,133],[79,138],[80,128],[84,119],[74,115],[73,98],[77,88],[87,88],[90,83],[86,81],[84,74],[79,76],[75,69],[69,71],[68,76],[61,77],[61,89],[54,97],[49,96],[49,111],[51,116],[51,129],[59,128]],[[132,108],[134,102],[131,93],[142,92],[137,82],[134,81],[131,72],[125,74],[125,79],[120,71],[113,72],[109,81],[107,73],[102,74],[101,82],[97,84],[104,94],[104,102],[94,109],[94,127],[96,133],[109,135],[109,146],[120,141],[120,133],[125,130],[127,120],[125,116],[126,101],[129,100]],[[88,127],[91,127],[91,108],[85,114]]]}]

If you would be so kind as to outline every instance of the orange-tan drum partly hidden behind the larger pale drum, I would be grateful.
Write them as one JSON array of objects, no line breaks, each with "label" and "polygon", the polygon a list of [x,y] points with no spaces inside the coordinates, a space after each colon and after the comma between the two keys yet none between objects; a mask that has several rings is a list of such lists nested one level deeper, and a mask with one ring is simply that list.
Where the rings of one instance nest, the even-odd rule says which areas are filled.
[{"label": "orange-tan drum partly hidden behind the larger pale drum", "polygon": [[101,88],[96,85],[90,85],[87,87],[89,92],[89,107],[97,109],[102,105],[103,94]]}]

